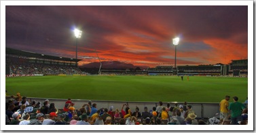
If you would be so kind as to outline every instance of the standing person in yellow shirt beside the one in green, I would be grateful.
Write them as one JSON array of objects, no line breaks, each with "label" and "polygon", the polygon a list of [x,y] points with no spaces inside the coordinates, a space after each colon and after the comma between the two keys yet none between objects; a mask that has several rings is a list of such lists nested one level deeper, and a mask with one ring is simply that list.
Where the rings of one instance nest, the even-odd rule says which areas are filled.
[{"label": "standing person in yellow shirt beside the one in green", "polygon": [[229,100],[230,100],[230,96],[225,96],[225,99],[219,102],[220,123],[228,119],[228,106],[229,106],[228,101]]}]

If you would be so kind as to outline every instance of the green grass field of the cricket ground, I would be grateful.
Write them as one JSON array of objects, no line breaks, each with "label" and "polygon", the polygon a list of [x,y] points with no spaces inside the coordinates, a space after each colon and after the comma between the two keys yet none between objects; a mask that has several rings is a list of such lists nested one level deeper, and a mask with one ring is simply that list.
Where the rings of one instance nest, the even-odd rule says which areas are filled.
[{"label": "green grass field of the cricket ground", "polygon": [[225,95],[248,95],[244,77],[167,76],[43,76],[10,77],[5,81],[9,95],[37,98],[123,100],[157,102],[220,102]]}]

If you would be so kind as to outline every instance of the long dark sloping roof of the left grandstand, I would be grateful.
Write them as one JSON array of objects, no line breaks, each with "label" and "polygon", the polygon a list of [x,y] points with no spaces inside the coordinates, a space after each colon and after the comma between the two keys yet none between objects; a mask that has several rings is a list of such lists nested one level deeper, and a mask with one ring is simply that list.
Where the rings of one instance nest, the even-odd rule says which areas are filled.
[{"label": "long dark sloping roof of the left grandstand", "polygon": [[81,60],[81,59],[75,59],[75,58],[66,58],[66,57],[38,54],[35,52],[28,52],[24,50],[15,50],[12,48],[5,48],[5,54],[12,54],[16,56],[26,56],[26,57],[33,57],[33,58],[45,58],[50,60],[62,60],[62,61],[70,61],[70,62],[79,62]]}]

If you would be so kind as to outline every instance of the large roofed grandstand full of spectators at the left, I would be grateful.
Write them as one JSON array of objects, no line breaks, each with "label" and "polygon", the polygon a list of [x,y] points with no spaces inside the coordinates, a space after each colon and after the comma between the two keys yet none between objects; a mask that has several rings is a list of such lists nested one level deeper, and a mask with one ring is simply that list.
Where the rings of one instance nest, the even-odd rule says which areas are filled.
[{"label": "large roofed grandstand full of spectators at the left", "polygon": [[33,75],[80,75],[81,70],[75,67],[80,59],[50,56],[5,48],[6,77]]}]

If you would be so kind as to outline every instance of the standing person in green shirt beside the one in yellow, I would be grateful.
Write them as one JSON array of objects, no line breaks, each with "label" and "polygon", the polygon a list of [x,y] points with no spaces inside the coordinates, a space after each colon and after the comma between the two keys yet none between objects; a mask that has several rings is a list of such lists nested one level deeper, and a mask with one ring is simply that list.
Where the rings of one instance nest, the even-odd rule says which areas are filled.
[{"label": "standing person in green shirt beside the one in yellow", "polygon": [[238,102],[238,97],[233,97],[234,102],[230,104],[230,107],[228,107],[229,111],[231,111],[231,124],[232,125],[238,125],[239,121],[242,121],[242,110],[246,107],[241,102]]}]

